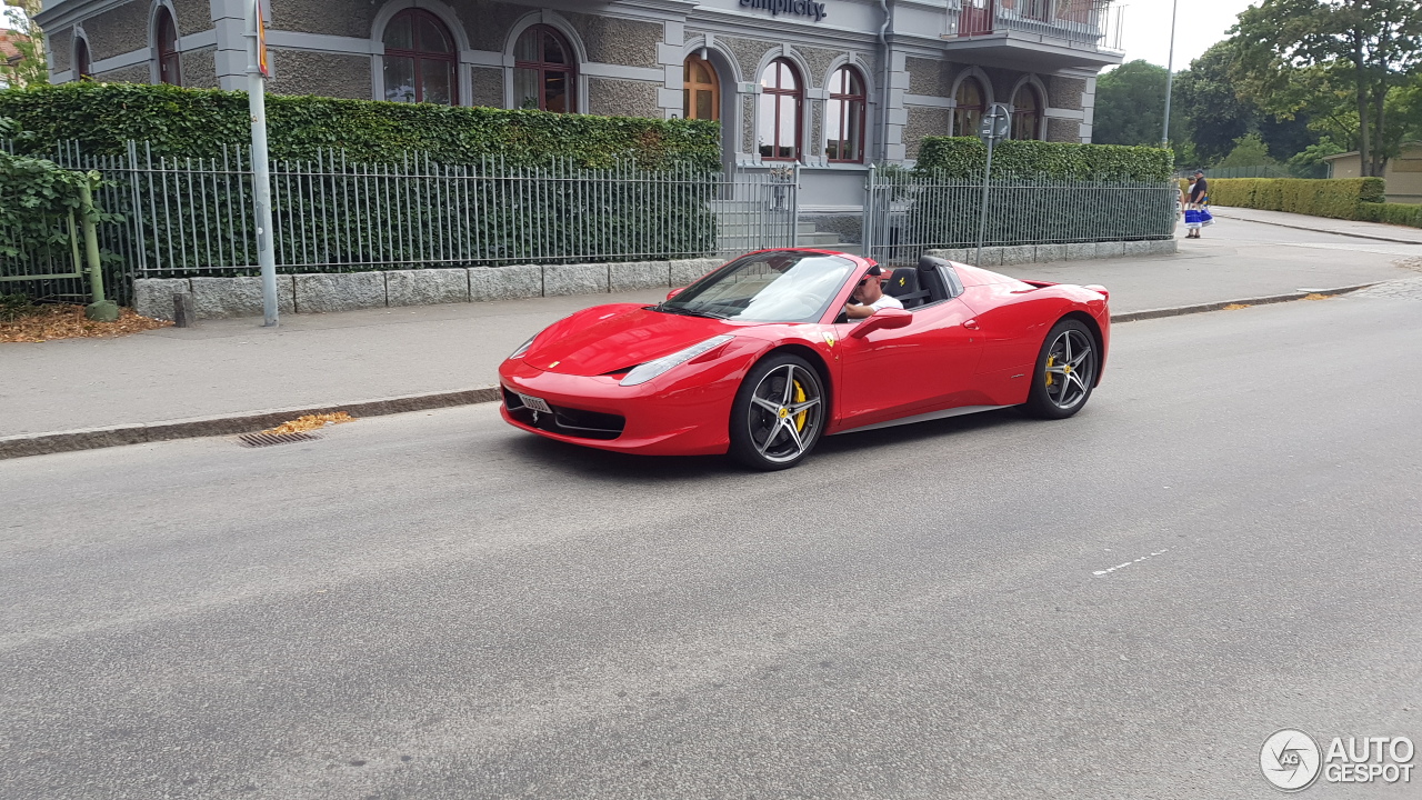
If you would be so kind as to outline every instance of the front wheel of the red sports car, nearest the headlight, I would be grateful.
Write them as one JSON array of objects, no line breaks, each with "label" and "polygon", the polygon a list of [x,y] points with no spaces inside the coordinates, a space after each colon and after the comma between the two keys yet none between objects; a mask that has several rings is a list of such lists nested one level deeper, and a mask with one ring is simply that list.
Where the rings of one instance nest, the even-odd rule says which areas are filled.
[{"label": "front wheel of the red sports car, nearest the headlight", "polygon": [[828,397],[805,359],[774,353],[751,367],[731,406],[731,457],[752,470],[788,470],[825,433]]}]

